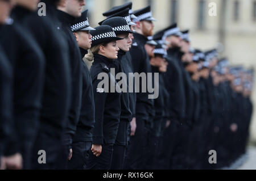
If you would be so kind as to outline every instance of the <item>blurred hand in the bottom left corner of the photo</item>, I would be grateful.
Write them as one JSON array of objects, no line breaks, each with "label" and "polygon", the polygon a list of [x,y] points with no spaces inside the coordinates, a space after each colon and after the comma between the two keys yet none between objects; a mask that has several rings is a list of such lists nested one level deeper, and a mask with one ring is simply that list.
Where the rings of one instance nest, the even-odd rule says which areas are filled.
[{"label": "blurred hand in the bottom left corner of the photo", "polygon": [[16,153],[9,157],[3,158],[5,162],[5,169],[10,170],[20,170],[22,169],[22,155],[20,153]]}]

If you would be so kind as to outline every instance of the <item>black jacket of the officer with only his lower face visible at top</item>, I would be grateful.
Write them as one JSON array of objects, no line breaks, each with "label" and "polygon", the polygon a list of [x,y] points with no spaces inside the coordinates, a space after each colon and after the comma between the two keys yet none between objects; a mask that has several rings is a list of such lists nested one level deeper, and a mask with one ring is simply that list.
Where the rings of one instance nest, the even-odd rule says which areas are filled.
[{"label": "black jacket of the officer with only his lower face visible at top", "polygon": [[82,57],[77,41],[71,31],[71,24],[75,18],[63,11],[56,10],[61,22],[65,39],[69,46],[69,64],[71,66],[71,104],[69,106],[68,122],[64,132],[64,144],[71,145],[72,137],[76,133],[79,121],[82,100]]}]

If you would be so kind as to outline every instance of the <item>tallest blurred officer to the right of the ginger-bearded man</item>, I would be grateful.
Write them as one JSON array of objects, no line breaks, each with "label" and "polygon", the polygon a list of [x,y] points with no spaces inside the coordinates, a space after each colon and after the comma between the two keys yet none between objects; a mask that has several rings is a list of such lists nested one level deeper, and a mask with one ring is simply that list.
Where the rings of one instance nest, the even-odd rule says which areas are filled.
[{"label": "tallest blurred officer to the right of the ginger-bearded man", "polygon": [[164,133],[164,143],[166,144],[167,142],[171,142],[171,144],[167,144],[166,147],[164,147],[168,151],[164,151],[161,157],[165,162],[165,165],[162,166],[163,169],[170,169],[171,165],[173,165],[171,162],[176,162],[174,161],[174,155],[179,154],[179,149],[181,148],[179,141],[174,137],[181,138],[179,134],[181,133],[179,132],[181,127],[180,123],[184,120],[185,114],[185,93],[183,75],[181,71],[182,53],[180,53],[181,33],[175,23],[170,27],[159,31],[157,34],[160,35],[159,37],[162,37],[162,41],[167,41],[168,43],[166,58],[168,61],[168,68],[164,75],[164,81],[166,82],[166,89],[170,94],[169,112],[172,126],[169,126]]}]

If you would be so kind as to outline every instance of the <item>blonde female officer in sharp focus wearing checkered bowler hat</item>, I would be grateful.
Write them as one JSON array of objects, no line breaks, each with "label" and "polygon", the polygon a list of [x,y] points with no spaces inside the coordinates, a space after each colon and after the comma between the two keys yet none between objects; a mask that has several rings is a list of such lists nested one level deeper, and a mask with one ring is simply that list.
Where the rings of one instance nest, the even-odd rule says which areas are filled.
[{"label": "blonde female officer in sharp focus wearing checkered bowler hat", "polygon": [[[93,128],[93,145],[89,151],[86,169],[106,170],[110,169],[121,115],[121,90],[110,69],[115,68],[114,60],[118,58],[119,48],[116,41],[122,38],[117,37],[110,26],[102,25],[95,29],[90,32],[93,36],[90,55],[86,54],[87,59],[88,56],[94,57],[90,75],[93,83],[96,121]],[[103,85],[98,77],[103,77]],[[114,91],[110,91],[113,89]]]}]

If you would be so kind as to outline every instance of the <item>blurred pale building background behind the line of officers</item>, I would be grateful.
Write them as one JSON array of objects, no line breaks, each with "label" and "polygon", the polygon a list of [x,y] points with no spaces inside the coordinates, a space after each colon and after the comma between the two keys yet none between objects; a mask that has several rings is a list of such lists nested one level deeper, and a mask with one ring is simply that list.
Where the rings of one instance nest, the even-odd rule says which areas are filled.
[{"label": "blurred pale building background behind the line of officers", "polygon": [[[104,20],[102,12],[130,0],[85,0],[89,22],[93,27]],[[133,0],[133,11],[151,5],[155,32],[178,24],[189,29],[193,48],[217,47],[220,56],[234,65],[256,68],[256,0]],[[216,6],[216,16],[212,13]],[[253,91],[254,114],[250,127],[250,144],[256,145],[256,92]]]}]

